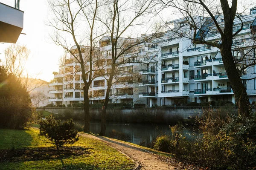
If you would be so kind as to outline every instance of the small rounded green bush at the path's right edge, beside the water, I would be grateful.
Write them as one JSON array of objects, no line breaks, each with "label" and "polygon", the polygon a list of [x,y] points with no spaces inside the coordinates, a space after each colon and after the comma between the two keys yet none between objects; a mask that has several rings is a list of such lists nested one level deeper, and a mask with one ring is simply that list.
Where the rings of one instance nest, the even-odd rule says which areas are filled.
[{"label": "small rounded green bush at the path's right edge, beside the water", "polygon": [[169,152],[170,141],[168,135],[158,136],[154,144],[154,149],[162,152]]}]

